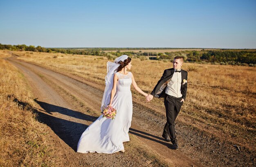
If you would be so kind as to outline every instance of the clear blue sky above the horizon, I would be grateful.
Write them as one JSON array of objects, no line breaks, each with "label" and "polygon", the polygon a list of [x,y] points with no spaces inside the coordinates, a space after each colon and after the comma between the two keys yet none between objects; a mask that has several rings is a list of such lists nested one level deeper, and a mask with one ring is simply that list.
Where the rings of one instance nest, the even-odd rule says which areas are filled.
[{"label": "clear blue sky above the horizon", "polygon": [[0,0],[0,43],[256,48],[256,0]]}]

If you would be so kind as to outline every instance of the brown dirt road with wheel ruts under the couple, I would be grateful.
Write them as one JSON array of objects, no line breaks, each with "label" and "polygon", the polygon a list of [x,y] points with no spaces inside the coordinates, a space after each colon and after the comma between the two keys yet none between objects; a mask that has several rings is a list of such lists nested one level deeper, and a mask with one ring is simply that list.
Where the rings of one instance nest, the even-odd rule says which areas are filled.
[{"label": "brown dirt road with wheel ruts under the couple", "polygon": [[[34,92],[39,121],[47,124],[49,145],[58,150],[56,165],[85,166],[211,166],[253,165],[235,147],[219,143],[207,134],[177,123],[180,149],[161,137],[164,114],[133,100],[131,141],[126,152],[115,154],[76,153],[83,131],[100,115],[103,86],[61,72],[54,72],[12,56],[7,59],[25,75]],[[232,154],[234,153],[234,154]],[[251,158],[251,157],[249,157]]]}]

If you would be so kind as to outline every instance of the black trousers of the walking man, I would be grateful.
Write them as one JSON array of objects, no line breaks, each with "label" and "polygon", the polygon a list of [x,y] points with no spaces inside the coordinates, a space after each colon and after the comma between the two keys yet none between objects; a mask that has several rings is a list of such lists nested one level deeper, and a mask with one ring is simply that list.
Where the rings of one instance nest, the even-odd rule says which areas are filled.
[{"label": "black trousers of the walking man", "polygon": [[167,122],[164,126],[163,134],[168,134],[173,144],[177,143],[174,121],[176,120],[177,115],[180,112],[180,108],[183,104],[183,102],[180,102],[181,99],[182,98],[173,98],[168,94],[166,94],[164,98]]}]

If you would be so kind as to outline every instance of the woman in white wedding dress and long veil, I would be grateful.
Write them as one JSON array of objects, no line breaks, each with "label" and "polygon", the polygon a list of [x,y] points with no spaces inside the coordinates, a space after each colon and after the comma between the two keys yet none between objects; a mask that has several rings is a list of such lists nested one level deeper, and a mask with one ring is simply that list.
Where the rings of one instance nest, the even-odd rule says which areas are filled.
[{"label": "woman in white wedding dress and long veil", "polygon": [[123,142],[130,141],[128,132],[132,121],[132,94],[130,85],[145,97],[148,96],[136,84],[130,70],[131,58],[122,55],[115,62],[107,63],[106,87],[101,103],[101,110],[108,104],[117,110],[115,119],[102,115],[82,134],[77,145],[77,152],[106,153],[124,152]]}]

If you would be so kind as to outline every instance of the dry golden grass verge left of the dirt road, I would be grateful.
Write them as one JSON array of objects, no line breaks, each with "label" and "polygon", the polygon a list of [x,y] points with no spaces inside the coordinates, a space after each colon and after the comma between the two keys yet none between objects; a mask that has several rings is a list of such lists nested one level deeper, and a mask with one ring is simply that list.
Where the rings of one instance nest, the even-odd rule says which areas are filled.
[{"label": "dry golden grass verge left of the dirt road", "polygon": [[0,52],[0,166],[50,166],[46,125],[36,120],[33,95],[7,56]]}]

